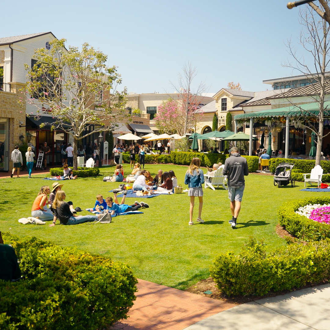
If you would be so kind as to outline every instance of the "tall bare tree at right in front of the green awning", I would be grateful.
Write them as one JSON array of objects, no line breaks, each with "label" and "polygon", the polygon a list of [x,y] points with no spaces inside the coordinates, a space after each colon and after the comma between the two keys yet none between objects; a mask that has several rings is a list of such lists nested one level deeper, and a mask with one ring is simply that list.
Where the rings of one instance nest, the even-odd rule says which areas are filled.
[{"label": "tall bare tree at right in front of the green awning", "polygon": [[[326,4],[330,0],[322,1]],[[321,3],[321,1],[320,1]],[[329,77],[326,76],[326,72],[329,70],[329,50],[330,50],[330,28],[329,23],[318,17],[319,13],[314,12],[314,3],[308,3],[308,6],[299,13],[300,24],[303,26],[303,30],[300,33],[299,44],[307,51],[308,58],[312,59],[312,64],[309,64],[305,60],[304,55],[299,55],[296,48],[292,45],[291,40],[288,41],[288,51],[292,55],[294,62],[287,62],[284,65],[286,67],[298,70],[305,75],[306,79],[311,85],[301,87],[298,90],[301,96],[308,97],[314,102],[319,104],[319,112],[317,114],[306,111],[302,108],[301,116],[298,118],[301,126],[311,128],[317,136],[317,148],[316,148],[316,165],[320,164],[320,156],[322,149],[322,142],[326,135],[323,135],[324,115],[327,107],[324,105],[325,95],[329,94]],[[297,92],[285,92],[283,95],[287,98],[288,102],[294,104],[290,98],[297,95]],[[298,106],[299,107],[299,106]]]}]

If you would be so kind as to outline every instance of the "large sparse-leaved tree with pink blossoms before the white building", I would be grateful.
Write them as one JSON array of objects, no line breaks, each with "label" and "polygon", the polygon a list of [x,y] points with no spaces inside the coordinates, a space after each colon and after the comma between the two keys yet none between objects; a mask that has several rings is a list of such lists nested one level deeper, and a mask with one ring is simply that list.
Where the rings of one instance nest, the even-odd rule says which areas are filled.
[{"label": "large sparse-leaved tree with pink blossoms before the white building", "polygon": [[72,134],[73,167],[77,169],[78,140],[93,133],[86,131],[86,126],[94,124],[94,133],[108,131],[113,123],[128,117],[127,92],[126,88],[117,90],[121,78],[116,66],[107,66],[106,54],[87,43],[81,51],[72,46],[66,50],[65,41],[54,39],[49,42],[49,50],[35,50],[37,63],[32,68],[25,64],[27,82],[19,103],[36,107],[38,116],[52,115],[56,122],[51,130]]}]

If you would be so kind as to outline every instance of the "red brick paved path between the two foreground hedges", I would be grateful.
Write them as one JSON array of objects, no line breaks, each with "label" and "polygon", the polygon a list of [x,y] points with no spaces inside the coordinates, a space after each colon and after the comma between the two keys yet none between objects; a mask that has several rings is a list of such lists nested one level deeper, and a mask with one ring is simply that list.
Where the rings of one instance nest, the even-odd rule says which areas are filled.
[{"label": "red brick paved path between the two foreground hedges", "polygon": [[111,330],[179,330],[236,306],[143,280],[137,287],[128,319],[117,322]]}]

